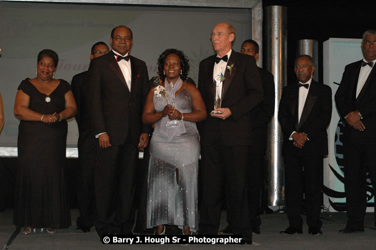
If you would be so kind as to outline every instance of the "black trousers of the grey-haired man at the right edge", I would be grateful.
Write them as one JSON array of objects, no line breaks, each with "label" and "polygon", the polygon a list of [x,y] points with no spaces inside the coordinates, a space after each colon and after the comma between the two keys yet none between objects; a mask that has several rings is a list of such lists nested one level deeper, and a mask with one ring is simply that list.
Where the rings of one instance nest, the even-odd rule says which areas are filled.
[{"label": "black trousers of the grey-haired man at the right edge", "polygon": [[346,192],[347,228],[364,230],[366,209],[366,172],[376,184],[376,144],[343,143],[344,190]]}]

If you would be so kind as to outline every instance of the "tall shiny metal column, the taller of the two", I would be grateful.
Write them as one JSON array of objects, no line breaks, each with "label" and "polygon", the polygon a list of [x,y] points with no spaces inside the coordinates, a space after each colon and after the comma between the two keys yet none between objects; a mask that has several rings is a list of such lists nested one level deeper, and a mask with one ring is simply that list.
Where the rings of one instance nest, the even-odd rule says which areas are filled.
[{"label": "tall shiny metal column, the taller of the two", "polygon": [[269,170],[269,205],[284,204],[284,166],[282,132],[278,106],[282,88],[287,84],[287,7],[266,6],[264,11],[263,67],[274,75],[274,115],[268,124],[266,160]]}]

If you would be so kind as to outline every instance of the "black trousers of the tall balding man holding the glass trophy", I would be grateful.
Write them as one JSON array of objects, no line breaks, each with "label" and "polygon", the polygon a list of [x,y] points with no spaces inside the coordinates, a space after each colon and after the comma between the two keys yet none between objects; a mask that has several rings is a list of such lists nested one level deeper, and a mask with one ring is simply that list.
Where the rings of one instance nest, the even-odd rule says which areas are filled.
[{"label": "black trousers of the tall balding man holding the glass trophy", "polygon": [[199,234],[217,234],[224,190],[232,232],[252,238],[247,193],[248,155],[249,146],[223,146],[220,141],[201,146]]}]

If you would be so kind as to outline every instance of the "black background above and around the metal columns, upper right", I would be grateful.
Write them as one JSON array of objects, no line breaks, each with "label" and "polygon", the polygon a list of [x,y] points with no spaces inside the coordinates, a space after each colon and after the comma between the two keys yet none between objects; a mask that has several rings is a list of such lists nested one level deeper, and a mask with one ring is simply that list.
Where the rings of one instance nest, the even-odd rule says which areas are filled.
[{"label": "black background above and around the metal columns, upper right", "polygon": [[296,80],[293,63],[297,40],[318,41],[318,81],[322,82],[322,43],[325,40],[361,38],[365,30],[376,29],[375,0],[262,0],[262,5],[264,8],[269,5],[287,7],[287,83]]}]

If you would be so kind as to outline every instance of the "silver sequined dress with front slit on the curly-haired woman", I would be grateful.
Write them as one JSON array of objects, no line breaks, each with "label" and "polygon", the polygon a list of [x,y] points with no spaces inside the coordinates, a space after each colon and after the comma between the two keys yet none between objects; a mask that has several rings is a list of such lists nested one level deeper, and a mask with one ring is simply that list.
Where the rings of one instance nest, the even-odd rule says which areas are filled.
[{"label": "silver sequined dress with front slit on the curly-haired woman", "polygon": [[[163,110],[166,98],[153,97],[156,111]],[[193,110],[190,94],[185,88],[175,97],[175,107],[182,113]],[[160,224],[188,225],[198,229],[197,174],[200,152],[196,124],[184,122],[185,132],[167,141],[160,130],[161,119],[155,123],[150,141],[147,189],[147,227]],[[178,169],[178,182],[176,179]]]}]

